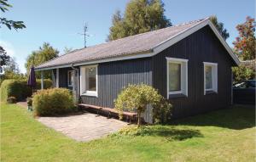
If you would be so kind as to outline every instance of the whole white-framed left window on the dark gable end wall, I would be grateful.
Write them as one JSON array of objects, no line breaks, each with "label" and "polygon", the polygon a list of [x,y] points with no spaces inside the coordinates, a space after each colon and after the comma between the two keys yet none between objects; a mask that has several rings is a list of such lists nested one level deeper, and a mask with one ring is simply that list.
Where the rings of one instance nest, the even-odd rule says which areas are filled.
[{"label": "whole white-framed left window on the dark gable end wall", "polygon": [[188,59],[167,59],[167,98],[172,94],[188,96]]}]

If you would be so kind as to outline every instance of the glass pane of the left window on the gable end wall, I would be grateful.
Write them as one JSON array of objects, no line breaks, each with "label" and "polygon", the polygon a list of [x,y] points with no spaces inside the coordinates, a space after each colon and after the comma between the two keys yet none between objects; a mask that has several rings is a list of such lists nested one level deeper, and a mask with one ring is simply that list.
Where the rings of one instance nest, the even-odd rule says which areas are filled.
[{"label": "glass pane of the left window on the gable end wall", "polygon": [[169,91],[181,91],[181,64],[169,63]]}]

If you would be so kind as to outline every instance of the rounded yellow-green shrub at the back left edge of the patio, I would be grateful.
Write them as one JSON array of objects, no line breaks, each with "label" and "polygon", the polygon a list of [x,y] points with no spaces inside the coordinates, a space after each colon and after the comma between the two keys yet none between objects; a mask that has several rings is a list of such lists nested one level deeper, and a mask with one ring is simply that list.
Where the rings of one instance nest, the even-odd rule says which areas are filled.
[{"label": "rounded yellow-green shrub at the back left edge of the patio", "polygon": [[74,110],[73,95],[66,88],[40,90],[33,95],[35,115],[61,115]]}]

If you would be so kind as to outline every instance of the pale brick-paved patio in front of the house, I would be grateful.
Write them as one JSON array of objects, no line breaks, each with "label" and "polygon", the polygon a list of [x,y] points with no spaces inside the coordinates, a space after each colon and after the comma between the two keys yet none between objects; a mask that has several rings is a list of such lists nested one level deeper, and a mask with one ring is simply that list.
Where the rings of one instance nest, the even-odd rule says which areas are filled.
[{"label": "pale brick-paved patio in front of the house", "polygon": [[[26,108],[25,103],[18,104]],[[45,126],[65,134],[67,137],[83,142],[105,137],[127,126],[127,123],[124,121],[108,119],[107,117],[88,112],[81,115],[39,117],[37,120]]]}]

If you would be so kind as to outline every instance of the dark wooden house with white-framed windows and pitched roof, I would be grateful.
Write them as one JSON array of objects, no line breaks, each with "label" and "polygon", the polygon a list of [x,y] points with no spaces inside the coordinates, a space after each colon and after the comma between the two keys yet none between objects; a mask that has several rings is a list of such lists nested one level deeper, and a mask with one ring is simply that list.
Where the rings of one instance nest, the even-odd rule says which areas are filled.
[{"label": "dark wooden house with white-framed windows and pitched roof", "polygon": [[[52,70],[55,87],[73,90],[82,103],[113,108],[128,84],[158,89],[173,117],[196,115],[232,103],[231,67],[239,64],[207,18],[74,50],[36,67]],[[151,110],[144,120],[151,122]]]}]

